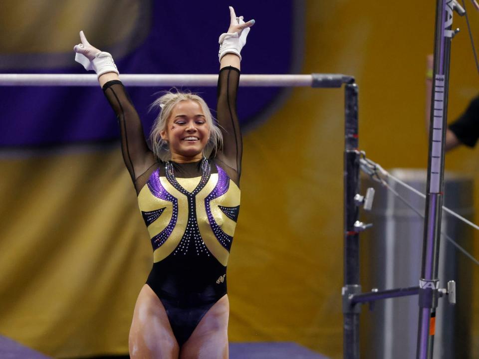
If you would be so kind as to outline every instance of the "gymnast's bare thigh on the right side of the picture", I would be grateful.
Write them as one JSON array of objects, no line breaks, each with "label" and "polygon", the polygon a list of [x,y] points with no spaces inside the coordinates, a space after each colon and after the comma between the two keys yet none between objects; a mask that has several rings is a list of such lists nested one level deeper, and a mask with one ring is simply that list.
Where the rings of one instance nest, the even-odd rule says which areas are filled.
[{"label": "gymnast's bare thigh on the right side of the picture", "polygon": [[225,294],[201,319],[181,347],[181,359],[227,359],[230,302]]}]

